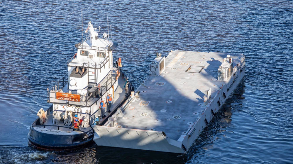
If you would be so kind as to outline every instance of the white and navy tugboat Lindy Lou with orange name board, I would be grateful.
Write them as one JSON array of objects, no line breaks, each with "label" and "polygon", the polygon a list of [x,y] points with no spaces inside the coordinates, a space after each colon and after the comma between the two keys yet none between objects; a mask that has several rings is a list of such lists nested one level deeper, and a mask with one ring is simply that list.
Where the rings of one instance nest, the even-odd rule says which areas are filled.
[{"label": "white and navy tugboat Lindy Lou with orange name board", "polygon": [[118,43],[106,32],[99,38],[99,31],[88,23],[85,41],[75,45],[77,53],[67,62],[68,74],[47,88],[52,105],[40,109],[31,125],[33,146],[56,151],[85,146],[94,137],[91,125],[103,124],[130,97],[134,89],[120,69],[121,58],[113,60]]}]

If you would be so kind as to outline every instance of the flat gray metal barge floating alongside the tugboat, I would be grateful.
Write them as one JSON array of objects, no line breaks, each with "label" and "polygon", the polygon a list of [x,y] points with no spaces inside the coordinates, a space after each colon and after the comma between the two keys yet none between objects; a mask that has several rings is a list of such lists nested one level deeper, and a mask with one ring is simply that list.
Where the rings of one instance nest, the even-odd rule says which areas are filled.
[{"label": "flat gray metal barge floating alongside the tugboat", "polygon": [[150,76],[102,125],[97,145],[185,153],[242,80],[245,56],[172,51],[157,54]]}]

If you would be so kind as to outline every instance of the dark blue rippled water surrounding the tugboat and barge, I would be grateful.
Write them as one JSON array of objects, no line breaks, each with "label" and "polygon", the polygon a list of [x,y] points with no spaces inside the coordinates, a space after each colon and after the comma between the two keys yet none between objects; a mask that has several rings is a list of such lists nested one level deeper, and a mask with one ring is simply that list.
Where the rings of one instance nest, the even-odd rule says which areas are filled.
[{"label": "dark blue rippled water surrounding the tugboat and barge", "polygon": [[[72,152],[28,145],[92,21],[107,31],[137,88],[155,53],[243,53],[245,77],[187,154],[96,146]],[[100,33],[101,34],[101,33]],[[0,2],[0,163],[293,163],[293,1]]]}]

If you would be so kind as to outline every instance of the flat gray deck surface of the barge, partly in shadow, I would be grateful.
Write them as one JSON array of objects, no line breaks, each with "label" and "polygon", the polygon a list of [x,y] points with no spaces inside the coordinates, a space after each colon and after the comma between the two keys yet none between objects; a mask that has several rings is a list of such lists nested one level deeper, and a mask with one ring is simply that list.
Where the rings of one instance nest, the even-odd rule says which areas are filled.
[{"label": "flat gray deck surface of the barge, partly in shadow", "polygon": [[[241,54],[230,54],[233,67]],[[197,120],[206,91],[217,94],[225,81],[218,81],[218,68],[227,53],[173,51],[166,57],[160,76],[149,76],[135,98],[118,117],[119,127],[163,131],[177,140]]]}]

